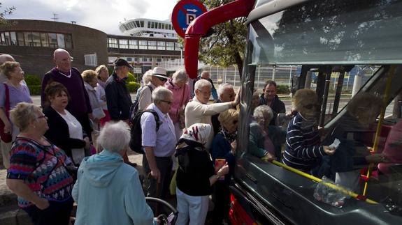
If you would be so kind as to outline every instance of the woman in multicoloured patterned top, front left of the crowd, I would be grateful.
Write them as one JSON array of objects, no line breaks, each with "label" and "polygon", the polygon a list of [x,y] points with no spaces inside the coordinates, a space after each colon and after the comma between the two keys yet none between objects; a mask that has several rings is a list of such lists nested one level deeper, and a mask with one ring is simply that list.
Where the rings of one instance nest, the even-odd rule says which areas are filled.
[{"label": "woman in multicoloured patterned top, front left of the crowd", "polygon": [[19,103],[10,111],[20,128],[13,143],[7,186],[18,196],[18,205],[34,224],[69,224],[73,208],[73,166],[63,150],[43,137],[46,116],[34,104]]}]

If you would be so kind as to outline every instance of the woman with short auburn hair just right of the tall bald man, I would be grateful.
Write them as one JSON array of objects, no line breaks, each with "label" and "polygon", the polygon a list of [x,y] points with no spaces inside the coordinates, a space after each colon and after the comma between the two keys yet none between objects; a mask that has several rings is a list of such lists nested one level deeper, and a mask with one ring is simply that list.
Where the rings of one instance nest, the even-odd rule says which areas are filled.
[{"label": "woman with short auburn hair just right of the tall bald man", "polygon": [[99,131],[99,121],[101,118],[105,117],[105,113],[102,109],[102,104],[99,102],[99,97],[96,94],[96,86],[98,84],[98,79],[96,78],[96,72],[94,70],[85,70],[81,74],[82,79],[84,80],[85,90],[88,93],[89,102],[91,102],[92,107],[92,116],[94,117],[94,130]]}]

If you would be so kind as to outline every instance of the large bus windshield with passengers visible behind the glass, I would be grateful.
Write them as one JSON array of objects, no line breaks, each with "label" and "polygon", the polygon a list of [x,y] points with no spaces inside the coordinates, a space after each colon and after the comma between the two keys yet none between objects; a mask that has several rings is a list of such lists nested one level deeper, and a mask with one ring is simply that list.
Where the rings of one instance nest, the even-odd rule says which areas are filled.
[{"label": "large bus windshield with passengers visible behind the glass", "polygon": [[[401,12],[402,1],[307,1],[250,22],[234,176],[291,222],[313,224],[313,209],[400,222]],[[342,212],[313,196],[323,177],[354,193]]]}]

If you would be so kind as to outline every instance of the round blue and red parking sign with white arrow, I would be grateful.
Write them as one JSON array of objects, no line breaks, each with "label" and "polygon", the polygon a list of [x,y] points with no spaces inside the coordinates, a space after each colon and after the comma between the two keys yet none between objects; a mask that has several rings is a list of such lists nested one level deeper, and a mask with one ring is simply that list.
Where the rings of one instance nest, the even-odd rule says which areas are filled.
[{"label": "round blue and red parking sign with white arrow", "polygon": [[172,12],[172,24],[176,33],[182,38],[185,38],[185,33],[189,24],[205,13],[206,7],[197,0],[182,0],[179,1]]}]

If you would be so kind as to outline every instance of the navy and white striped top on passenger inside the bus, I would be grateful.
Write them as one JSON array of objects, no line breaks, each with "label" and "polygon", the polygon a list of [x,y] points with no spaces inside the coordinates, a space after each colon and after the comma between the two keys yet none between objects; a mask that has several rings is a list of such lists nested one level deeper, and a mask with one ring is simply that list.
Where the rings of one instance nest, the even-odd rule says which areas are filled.
[{"label": "navy and white striped top on passenger inside the bus", "polygon": [[286,150],[282,162],[309,173],[317,158],[323,155],[326,154],[320,146],[317,123],[310,123],[301,114],[296,114],[287,125]]}]

